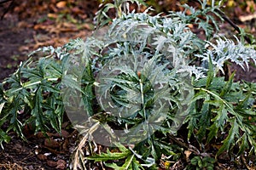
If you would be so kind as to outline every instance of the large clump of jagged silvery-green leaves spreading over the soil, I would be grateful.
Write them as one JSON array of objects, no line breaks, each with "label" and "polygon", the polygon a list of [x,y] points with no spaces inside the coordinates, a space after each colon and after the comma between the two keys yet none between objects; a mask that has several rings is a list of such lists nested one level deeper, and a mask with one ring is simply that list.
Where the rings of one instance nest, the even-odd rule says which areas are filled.
[{"label": "large clump of jagged silvery-green leaves spreading over the soil", "polygon": [[[256,84],[235,82],[235,73],[228,79],[220,75],[227,74],[227,63],[244,69],[251,62],[256,64],[256,51],[239,38],[233,41],[215,36],[218,20],[214,17],[221,17],[216,12],[219,6],[214,1],[208,5],[204,0],[201,8],[184,5],[186,10],[193,11],[190,15],[184,11],[151,16],[150,9],[144,13],[130,12],[127,2],[116,2],[106,4],[98,14],[98,22],[103,25],[111,20],[104,37],[89,37],[85,42],[72,40],[61,48],[39,48],[32,56],[41,53],[43,57],[27,60],[5,79],[0,87],[0,125],[8,123],[9,128],[1,128],[1,144],[9,141],[10,130],[24,138],[22,128],[27,123],[35,127],[35,133],[46,132],[50,127],[60,132],[66,101],[71,97],[77,99],[73,97],[77,93],[81,95],[86,117],[90,118],[73,156],[74,169],[94,167],[94,161],[114,169],[168,168],[177,166],[177,162],[182,167],[211,169],[222,154],[230,159],[245,155],[247,160],[255,158]],[[117,17],[103,22],[102,14],[108,17],[109,8],[116,8]],[[204,30],[207,39],[199,38],[189,24]],[[123,112],[107,113],[104,108],[113,105],[102,106],[104,95],[96,96],[95,89],[101,85],[96,77],[113,59],[122,61],[127,56],[141,56],[141,60],[134,58],[133,64],[143,68],[138,72],[139,66],[131,69],[121,63],[113,68],[120,74],[110,77],[111,83],[105,89],[116,108]],[[154,82],[162,85],[157,92],[152,90]],[[65,88],[74,92],[65,91],[63,95]],[[188,91],[192,96],[183,95]],[[139,98],[127,94],[139,94]],[[141,99],[143,107],[127,109],[135,99]],[[157,101],[167,101],[168,111],[153,111],[150,106]],[[69,111],[72,108],[75,116],[77,108],[68,105]],[[176,117],[180,108],[183,110],[179,116],[183,119]],[[97,144],[91,136],[100,126],[114,136],[113,128],[136,129],[148,117],[162,122],[143,141],[127,147],[116,141],[118,149],[110,147],[106,153],[96,154]],[[173,123],[181,130],[173,129]],[[143,128],[150,131],[154,127]],[[188,150],[190,154],[184,156]]]}]

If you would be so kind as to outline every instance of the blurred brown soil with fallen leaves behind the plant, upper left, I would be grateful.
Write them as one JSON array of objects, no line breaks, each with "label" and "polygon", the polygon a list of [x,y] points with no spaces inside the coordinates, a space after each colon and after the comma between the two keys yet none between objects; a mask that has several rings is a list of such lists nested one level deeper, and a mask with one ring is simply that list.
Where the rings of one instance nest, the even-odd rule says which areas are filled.
[{"label": "blurred brown soil with fallen leaves behind the plant, upper left", "polygon": [[[85,38],[94,28],[92,20],[98,8],[94,0],[70,0],[63,8],[56,7],[60,2],[56,0],[14,2],[9,8],[11,2],[1,4],[0,0],[0,17],[8,9],[0,20],[1,82],[33,50],[49,45],[58,47],[76,37]],[[72,15],[71,19],[63,17],[65,14]]]}]

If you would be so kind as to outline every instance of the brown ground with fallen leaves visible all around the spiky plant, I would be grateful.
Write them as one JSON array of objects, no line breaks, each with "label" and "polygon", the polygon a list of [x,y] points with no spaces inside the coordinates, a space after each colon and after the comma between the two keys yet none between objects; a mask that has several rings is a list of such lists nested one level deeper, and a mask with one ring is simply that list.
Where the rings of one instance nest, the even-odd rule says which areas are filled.
[{"label": "brown ground with fallen leaves visible all around the spiky plant", "polygon": [[[48,4],[50,8],[39,2],[24,0],[15,4],[0,20],[0,82],[13,73],[32,50],[48,45],[61,46],[75,37],[85,38],[93,29],[91,19],[97,7],[96,3],[91,3],[94,1],[83,1],[83,6],[79,3],[79,6],[72,9],[66,8],[67,4],[55,1]],[[8,5],[0,7],[0,14]],[[70,17],[64,18],[63,14]],[[224,25],[224,29],[227,27]],[[232,65],[230,70],[237,70],[237,80],[256,82],[256,68],[253,66],[247,72],[238,69],[236,65]],[[67,125],[68,121],[64,124]],[[62,136],[49,132],[49,139],[40,134],[34,136],[29,127],[24,131],[27,141],[10,132],[12,140],[9,144],[3,144],[4,150],[0,149],[0,169],[66,168],[77,138],[72,128],[63,127]],[[49,143],[49,140],[53,142]]]}]

